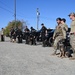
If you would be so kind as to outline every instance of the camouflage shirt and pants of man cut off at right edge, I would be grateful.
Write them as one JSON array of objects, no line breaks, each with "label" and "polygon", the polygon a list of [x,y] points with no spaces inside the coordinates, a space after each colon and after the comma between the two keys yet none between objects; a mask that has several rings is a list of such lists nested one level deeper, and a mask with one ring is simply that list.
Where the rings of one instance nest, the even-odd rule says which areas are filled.
[{"label": "camouflage shirt and pants of man cut off at right edge", "polygon": [[72,46],[73,56],[75,58],[75,20],[71,23],[70,44]]}]

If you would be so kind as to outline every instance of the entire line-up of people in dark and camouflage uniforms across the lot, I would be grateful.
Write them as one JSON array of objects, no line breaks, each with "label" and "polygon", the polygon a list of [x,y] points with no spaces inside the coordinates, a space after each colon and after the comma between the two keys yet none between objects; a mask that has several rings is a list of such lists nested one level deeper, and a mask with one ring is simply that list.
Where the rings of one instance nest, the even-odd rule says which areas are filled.
[{"label": "entire line-up of people in dark and camouflage uniforms across the lot", "polygon": [[[75,13],[70,13],[69,18],[72,20],[71,22],[71,28],[70,28],[70,45],[71,45],[71,49],[73,51],[73,55],[71,56],[70,59],[75,59]],[[57,55],[57,50],[58,50],[58,43],[60,40],[66,40],[66,36],[67,36],[67,31],[68,31],[68,25],[66,24],[66,19],[65,18],[57,18],[56,19],[57,22],[57,26],[55,27],[55,31],[53,34],[53,40],[54,40],[54,44],[53,47],[55,49],[53,55]],[[47,28],[44,26],[44,24],[41,24],[41,36],[42,36],[42,43],[44,45],[45,43],[45,39],[48,36],[47,34]],[[1,31],[1,41],[4,41],[4,33],[3,33],[4,29],[2,28]],[[31,41],[31,44],[35,44],[36,45],[36,30],[31,27],[30,29],[26,26],[25,30],[24,30],[24,34],[20,28],[17,28],[16,30],[12,27],[10,30],[10,39],[12,42],[16,42],[16,38],[18,38],[18,43],[22,43],[22,39],[23,37],[25,37],[24,39],[26,40],[26,44],[29,44],[29,41]],[[62,51],[61,51],[62,52]],[[65,50],[64,53],[62,53],[63,56],[65,56]]]}]

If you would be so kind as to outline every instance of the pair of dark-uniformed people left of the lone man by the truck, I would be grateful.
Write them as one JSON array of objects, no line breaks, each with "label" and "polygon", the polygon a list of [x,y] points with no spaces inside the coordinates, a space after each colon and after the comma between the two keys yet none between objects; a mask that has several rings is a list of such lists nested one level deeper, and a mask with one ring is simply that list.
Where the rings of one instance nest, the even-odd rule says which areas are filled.
[{"label": "pair of dark-uniformed people left of the lone man by the truck", "polygon": [[30,29],[26,26],[24,30],[24,39],[26,44],[36,45],[36,29],[31,27]]}]

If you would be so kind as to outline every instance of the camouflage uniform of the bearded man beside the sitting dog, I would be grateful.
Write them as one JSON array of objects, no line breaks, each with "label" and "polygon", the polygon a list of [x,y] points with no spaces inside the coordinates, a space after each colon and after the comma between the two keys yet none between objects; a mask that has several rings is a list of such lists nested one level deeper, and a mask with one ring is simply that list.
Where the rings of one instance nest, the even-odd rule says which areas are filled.
[{"label": "camouflage uniform of the bearded man beside the sitting dog", "polygon": [[66,39],[66,31],[68,30],[68,27],[66,24],[60,24],[56,27],[55,32],[53,37],[55,38],[54,40],[54,49],[55,49],[55,54],[58,49],[58,42],[62,39]]}]

